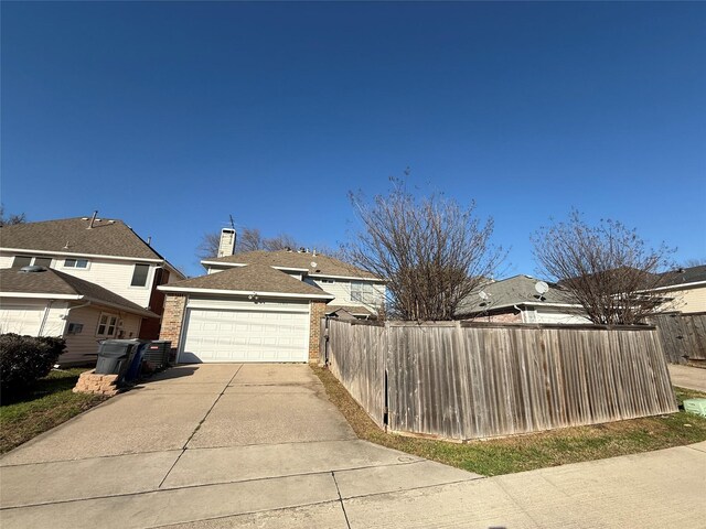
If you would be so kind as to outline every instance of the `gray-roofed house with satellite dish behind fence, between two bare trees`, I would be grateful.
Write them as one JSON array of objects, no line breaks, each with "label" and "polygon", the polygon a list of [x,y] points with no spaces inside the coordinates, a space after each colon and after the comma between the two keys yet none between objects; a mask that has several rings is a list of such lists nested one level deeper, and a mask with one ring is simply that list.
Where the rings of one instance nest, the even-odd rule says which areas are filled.
[{"label": "gray-roofed house with satellite dish behind fence, between two bare trees", "polygon": [[[546,292],[541,294],[545,285]],[[566,290],[530,276],[481,284],[460,303],[456,315],[459,320],[502,323],[590,323]]]}]

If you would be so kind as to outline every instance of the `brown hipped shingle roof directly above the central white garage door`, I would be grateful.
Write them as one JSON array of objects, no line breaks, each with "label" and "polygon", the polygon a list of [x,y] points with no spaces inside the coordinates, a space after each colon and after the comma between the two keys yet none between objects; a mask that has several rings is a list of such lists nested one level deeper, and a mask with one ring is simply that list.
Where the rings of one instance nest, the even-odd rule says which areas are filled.
[{"label": "brown hipped shingle roof directly above the central white garage door", "polygon": [[[307,295],[330,295],[318,287],[304,283],[268,264],[247,264],[229,268],[221,272],[200,276],[160,287],[169,292],[173,289],[231,290],[257,293],[282,293]],[[330,295],[333,299],[333,295]]]}]

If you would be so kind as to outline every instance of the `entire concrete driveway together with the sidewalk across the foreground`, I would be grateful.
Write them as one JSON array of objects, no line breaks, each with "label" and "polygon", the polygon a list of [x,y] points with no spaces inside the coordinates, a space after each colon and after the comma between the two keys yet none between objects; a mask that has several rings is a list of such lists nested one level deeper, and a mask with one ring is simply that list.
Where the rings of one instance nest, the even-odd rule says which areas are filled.
[{"label": "entire concrete driveway together with the sidewalk across the foreground", "polygon": [[355,438],[302,365],[182,366],[0,460],[11,528],[703,527],[706,443],[482,478]]}]

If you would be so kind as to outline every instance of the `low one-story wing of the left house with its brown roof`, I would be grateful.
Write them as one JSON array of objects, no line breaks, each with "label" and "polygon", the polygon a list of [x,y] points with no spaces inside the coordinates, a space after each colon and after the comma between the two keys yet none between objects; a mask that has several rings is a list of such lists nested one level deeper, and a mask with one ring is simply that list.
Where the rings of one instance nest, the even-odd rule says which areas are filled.
[{"label": "low one-story wing of the left house with its brown roof", "polygon": [[95,361],[98,341],[136,338],[157,314],[89,281],[44,267],[0,269],[0,332],[61,336],[58,363]]}]

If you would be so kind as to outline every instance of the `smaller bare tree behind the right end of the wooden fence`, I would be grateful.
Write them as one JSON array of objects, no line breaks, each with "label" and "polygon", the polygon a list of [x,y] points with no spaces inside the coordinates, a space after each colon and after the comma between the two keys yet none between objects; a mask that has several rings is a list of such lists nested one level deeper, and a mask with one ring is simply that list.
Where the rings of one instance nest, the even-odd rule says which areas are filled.
[{"label": "smaller bare tree behind the right end of the wooden fence", "polygon": [[541,272],[567,289],[593,323],[640,324],[666,301],[654,289],[674,250],[648,248],[617,220],[590,226],[574,209],[568,220],[539,228],[532,242]]}]

